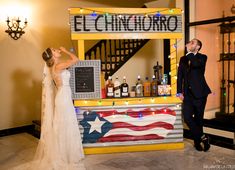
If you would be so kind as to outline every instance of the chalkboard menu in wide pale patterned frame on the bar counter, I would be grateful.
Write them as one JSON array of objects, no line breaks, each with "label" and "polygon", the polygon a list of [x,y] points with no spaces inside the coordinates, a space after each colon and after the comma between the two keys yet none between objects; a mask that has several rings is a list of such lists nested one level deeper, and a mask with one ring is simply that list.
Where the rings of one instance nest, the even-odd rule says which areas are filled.
[{"label": "chalkboard menu in wide pale patterned frame on the bar counter", "polygon": [[69,70],[73,99],[101,98],[100,60],[79,61]]}]

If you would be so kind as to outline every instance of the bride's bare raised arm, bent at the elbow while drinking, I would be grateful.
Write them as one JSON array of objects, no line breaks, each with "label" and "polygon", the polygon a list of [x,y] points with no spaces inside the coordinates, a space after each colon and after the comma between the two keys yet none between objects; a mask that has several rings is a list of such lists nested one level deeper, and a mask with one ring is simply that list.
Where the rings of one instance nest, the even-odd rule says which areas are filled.
[{"label": "bride's bare raised arm, bent at the elbow while drinking", "polygon": [[66,69],[72,65],[74,65],[75,63],[78,62],[78,57],[76,55],[74,55],[73,53],[69,52],[68,50],[66,50],[64,47],[60,47],[60,50],[67,54],[70,58],[68,60],[65,60],[61,63],[58,63],[56,65],[56,70],[63,70],[63,69]]}]

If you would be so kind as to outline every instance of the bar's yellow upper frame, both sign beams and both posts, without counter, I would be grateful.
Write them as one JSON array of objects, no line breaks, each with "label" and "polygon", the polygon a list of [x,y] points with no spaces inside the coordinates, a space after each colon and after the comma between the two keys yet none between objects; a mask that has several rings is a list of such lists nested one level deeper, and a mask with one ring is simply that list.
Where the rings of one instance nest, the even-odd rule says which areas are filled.
[{"label": "bar's yellow upper frame, both sign beams and both posts, without counter", "polygon": [[[179,8],[70,8],[70,15],[91,14],[95,11],[97,14],[161,14],[182,15]],[[128,12],[127,12],[128,11]],[[177,51],[174,45],[177,39],[182,39],[182,33],[71,33],[72,40],[78,41],[78,57],[85,60],[84,40],[100,40],[100,39],[170,39],[170,63],[171,63],[171,94],[176,94],[177,79]]]}]

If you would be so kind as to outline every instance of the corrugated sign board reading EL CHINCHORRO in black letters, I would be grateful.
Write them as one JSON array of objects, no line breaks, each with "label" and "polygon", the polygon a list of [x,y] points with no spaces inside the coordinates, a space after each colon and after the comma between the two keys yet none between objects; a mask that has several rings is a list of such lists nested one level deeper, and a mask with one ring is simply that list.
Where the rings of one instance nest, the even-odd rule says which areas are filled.
[{"label": "corrugated sign board reading EL CHINCHORRO in black letters", "polygon": [[71,15],[71,32],[81,33],[181,33],[181,15]]}]

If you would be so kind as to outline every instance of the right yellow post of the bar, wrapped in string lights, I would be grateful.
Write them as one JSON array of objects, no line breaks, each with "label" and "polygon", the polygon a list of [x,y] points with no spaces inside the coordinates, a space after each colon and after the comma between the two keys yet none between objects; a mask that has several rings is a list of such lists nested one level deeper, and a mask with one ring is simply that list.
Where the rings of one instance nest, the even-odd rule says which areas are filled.
[{"label": "right yellow post of the bar, wrapped in string lights", "polygon": [[171,94],[177,93],[177,39],[170,40],[170,63],[171,63]]}]

